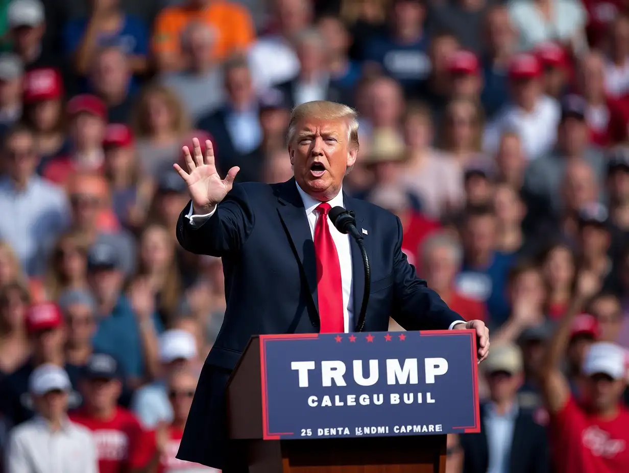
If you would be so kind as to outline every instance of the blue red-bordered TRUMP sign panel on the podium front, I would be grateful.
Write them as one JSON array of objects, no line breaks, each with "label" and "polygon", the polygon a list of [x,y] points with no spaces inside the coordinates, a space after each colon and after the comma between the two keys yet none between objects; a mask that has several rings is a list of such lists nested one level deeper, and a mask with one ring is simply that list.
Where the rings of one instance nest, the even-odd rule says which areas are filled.
[{"label": "blue red-bordered TRUMP sign panel on the podium front", "polygon": [[480,432],[474,330],[260,335],[265,439]]}]

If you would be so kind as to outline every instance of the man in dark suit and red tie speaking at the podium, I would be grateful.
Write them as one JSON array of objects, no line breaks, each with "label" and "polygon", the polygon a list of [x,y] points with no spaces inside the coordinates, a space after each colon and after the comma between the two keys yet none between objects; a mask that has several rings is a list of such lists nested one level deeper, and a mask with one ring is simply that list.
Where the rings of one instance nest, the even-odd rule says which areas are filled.
[{"label": "man in dark suit and red tie speaking at the podium", "polygon": [[479,359],[489,348],[480,320],[463,322],[417,278],[402,253],[402,226],[376,205],[342,192],[358,153],[355,112],[333,102],[308,102],[292,112],[287,137],[294,178],[278,184],[233,185],[221,180],[212,144],[184,148],[191,204],[181,212],[177,239],[196,254],[223,258],[227,307],[220,334],[199,378],[178,458],[242,471],[237,443],[226,441],[225,384],[252,335],[352,332],[362,300],[364,269],[355,241],[328,219],[331,207],[353,210],[370,258],[365,330],[475,329]]}]

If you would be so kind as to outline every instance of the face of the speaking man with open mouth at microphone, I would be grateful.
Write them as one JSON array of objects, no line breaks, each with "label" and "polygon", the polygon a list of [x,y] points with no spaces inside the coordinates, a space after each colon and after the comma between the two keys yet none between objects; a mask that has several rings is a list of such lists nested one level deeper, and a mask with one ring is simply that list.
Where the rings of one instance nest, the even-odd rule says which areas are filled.
[{"label": "face of the speaking man with open mouth at microphone", "polygon": [[322,200],[337,195],[348,166],[356,162],[357,150],[352,149],[348,134],[342,120],[312,118],[296,124],[288,152],[304,192]]}]

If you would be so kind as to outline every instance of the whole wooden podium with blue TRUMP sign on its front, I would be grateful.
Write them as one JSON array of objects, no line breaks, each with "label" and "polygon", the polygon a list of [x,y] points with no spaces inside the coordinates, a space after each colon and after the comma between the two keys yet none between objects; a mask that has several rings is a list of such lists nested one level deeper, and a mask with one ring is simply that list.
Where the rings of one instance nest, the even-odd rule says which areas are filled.
[{"label": "whole wooden podium with blue TRUMP sign on its front", "polygon": [[479,432],[474,330],[259,335],[226,387],[250,473],[445,473]]}]

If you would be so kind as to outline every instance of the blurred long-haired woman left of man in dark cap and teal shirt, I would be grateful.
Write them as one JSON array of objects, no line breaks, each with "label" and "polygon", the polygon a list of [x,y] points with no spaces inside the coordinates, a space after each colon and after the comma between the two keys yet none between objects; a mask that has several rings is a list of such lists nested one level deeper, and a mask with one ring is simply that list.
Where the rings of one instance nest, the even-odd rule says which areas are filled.
[{"label": "blurred long-haired woman left of man in dark cap and teal shirt", "polygon": [[47,298],[57,300],[66,290],[87,286],[89,243],[77,232],[63,234],[52,249],[43,284]]}]

